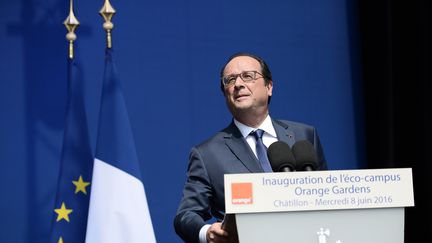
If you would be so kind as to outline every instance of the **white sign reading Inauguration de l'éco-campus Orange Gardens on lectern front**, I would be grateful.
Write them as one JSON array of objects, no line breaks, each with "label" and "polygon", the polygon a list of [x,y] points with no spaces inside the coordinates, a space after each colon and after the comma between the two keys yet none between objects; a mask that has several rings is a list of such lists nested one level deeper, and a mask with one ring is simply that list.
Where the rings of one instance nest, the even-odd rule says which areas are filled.
[{"label": "white sign reading Inauguration de l'\u00e9co-campus Orange Gardens on lectern front", "polygon": [[226,213],[414,206],[412,171],[328,170],[225,175]]}]

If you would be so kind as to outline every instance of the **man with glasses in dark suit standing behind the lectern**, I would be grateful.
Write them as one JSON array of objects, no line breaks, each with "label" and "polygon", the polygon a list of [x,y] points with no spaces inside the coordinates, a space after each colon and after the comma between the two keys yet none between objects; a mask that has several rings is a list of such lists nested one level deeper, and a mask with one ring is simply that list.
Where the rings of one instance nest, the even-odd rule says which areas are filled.
[{"label": "man with glasses in dark suit standing behind the lectern", "polygon": [[[221,89],[233,121],[191,150],[188,178],[174,219],[175,230],[185,242],[235,240],[221,228],[224,174],[269,172],[257,159],[257,140],[252,135],[257,129],[264,130],[262,142],[266,147],[278,140],[290,146],[296,141],[310,141],[317,153],[318,169],[327,168],[314,127],[270,118],[273,81],[260,57],[249,53],[231,56],[221,70]],[[216,222],[208,223],[212,218]]]}]

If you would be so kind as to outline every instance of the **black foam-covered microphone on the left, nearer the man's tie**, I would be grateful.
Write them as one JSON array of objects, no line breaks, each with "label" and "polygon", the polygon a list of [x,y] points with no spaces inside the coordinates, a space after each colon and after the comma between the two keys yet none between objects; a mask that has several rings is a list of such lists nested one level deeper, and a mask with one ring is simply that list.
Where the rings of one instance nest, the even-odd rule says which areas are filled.
[{"label": "black foam-covered microphone on the left, nearer the man's tie", "polygon": [[294,171],[296,161],[289,145],[282,141],[272,143],[267,149],[267,157],[274,172]]}]

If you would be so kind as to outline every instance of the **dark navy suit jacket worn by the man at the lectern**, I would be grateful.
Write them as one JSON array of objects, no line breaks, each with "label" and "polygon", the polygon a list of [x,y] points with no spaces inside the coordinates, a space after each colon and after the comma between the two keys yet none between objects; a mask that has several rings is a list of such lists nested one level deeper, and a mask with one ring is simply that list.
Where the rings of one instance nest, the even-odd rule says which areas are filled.
[{"label": "dark navy suit jacket worn by the man at the lectern", "polygon": [[[319,170],[327,169],[323,150],[314,127],[285,120],[272,120],[278,140],[292,146],[309,140],[316,150]],[[212,217],[222,220],[225,213],[224,174],[263,172],[234,122],[216,135],[193,147],[188,178],[183,189],[174,227],[185,242],[198,242],[198,234]]]}]

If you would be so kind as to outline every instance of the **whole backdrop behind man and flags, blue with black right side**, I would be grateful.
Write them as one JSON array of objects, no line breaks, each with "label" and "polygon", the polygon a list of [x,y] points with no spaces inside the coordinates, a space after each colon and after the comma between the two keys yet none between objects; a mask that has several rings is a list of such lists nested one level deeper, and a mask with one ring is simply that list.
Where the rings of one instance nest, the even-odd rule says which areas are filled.
[{"label": "whole backdrop behind man and flags, blue with black right side", "polygon": [[[330,169],[413,167],[417,206],[407,210],[406,242],[427,239],[430,224],[417,222],[431,214],[430,3],[111,3],[116,64],[158,242],[180,242],[172,220],[188,153],[230,122],[218,75],[238,51],[267,61],[272,116],[316,126]],[[102,4],[74,5],[91,144],[103,76]],[[0,242],[49,236],[66,109],[68,10],[64,0],[0,2]]]}]

